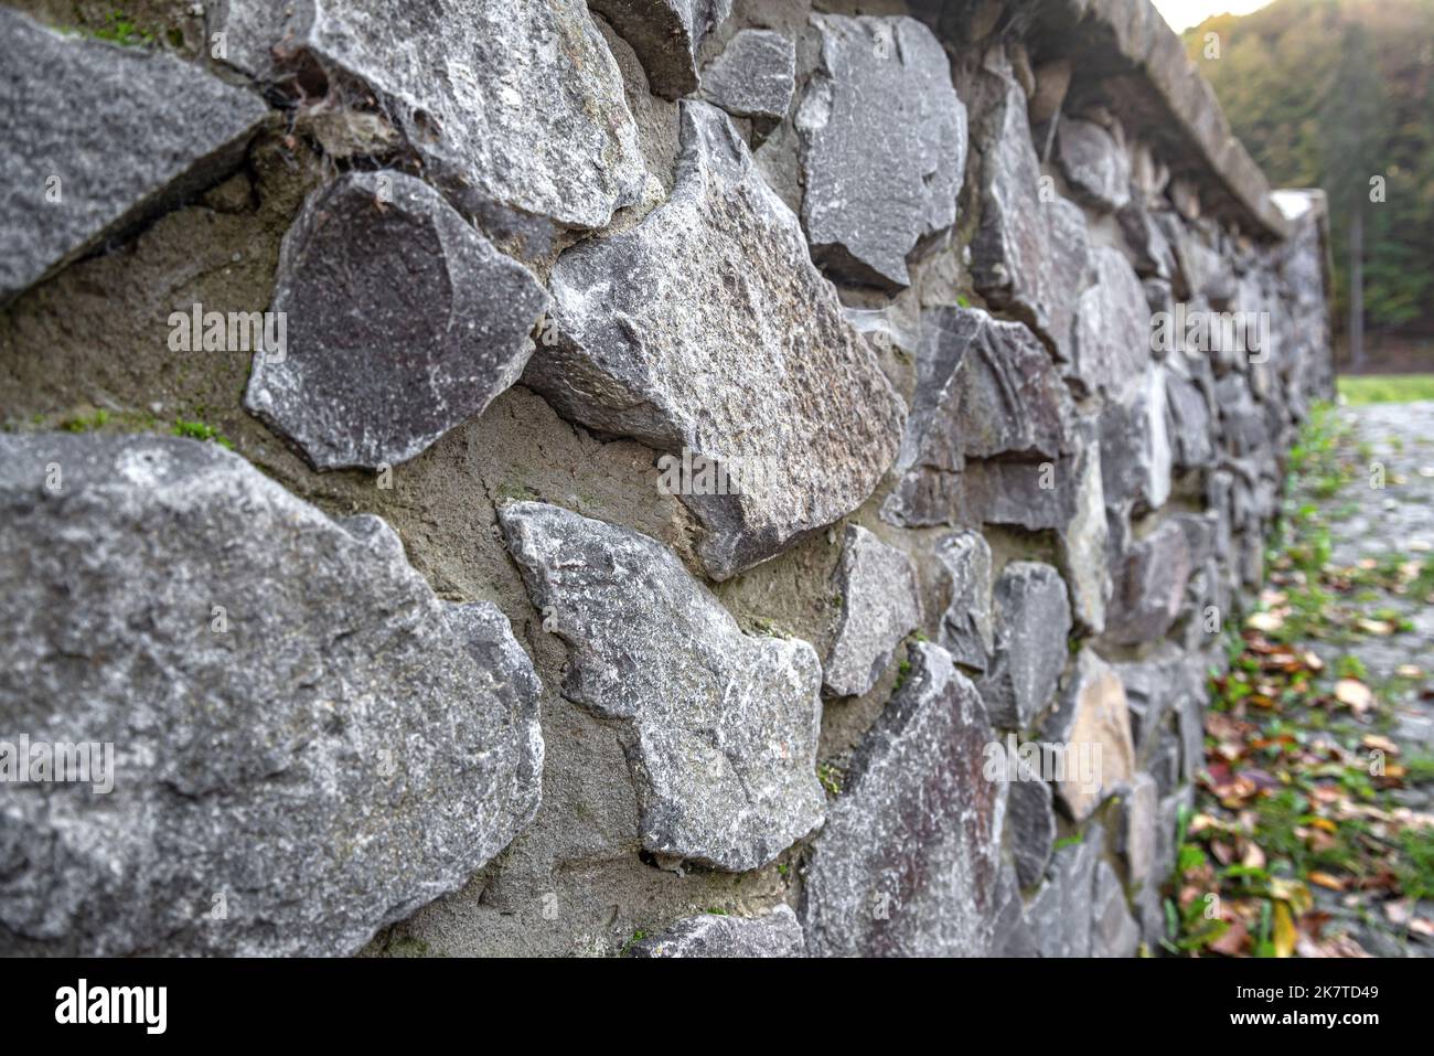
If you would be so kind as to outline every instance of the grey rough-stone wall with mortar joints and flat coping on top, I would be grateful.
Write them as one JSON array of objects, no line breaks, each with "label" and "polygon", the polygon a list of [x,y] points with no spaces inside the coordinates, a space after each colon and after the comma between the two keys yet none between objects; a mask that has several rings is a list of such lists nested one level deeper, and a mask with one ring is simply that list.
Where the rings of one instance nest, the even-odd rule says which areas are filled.
[{"label": "grey rough-stone wall with mortar joints and flat coping on top", "polygon": [[206,7],[0,7],[0,951],[1159,948],[1331,360],[1144,0]]}]

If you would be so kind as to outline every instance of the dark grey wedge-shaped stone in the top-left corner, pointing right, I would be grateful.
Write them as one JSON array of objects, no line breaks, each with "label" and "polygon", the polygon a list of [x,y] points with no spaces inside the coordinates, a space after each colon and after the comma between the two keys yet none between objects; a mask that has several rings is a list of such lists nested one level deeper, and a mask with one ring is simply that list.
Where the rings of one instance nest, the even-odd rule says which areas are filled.
[{"label": "dark grey wedge-shaped stone in the top-left corner, pointing right", "polygon": [[235,168],[268,108],[172,56],[66,37],[0,7],[0,112],[4,307]]}]

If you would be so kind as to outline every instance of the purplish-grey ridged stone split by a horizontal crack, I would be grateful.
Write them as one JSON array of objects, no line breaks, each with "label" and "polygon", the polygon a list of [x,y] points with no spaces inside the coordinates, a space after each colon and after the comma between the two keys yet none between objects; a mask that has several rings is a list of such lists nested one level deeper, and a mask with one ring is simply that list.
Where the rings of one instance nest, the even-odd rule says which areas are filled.
[{"label": "purplish-grey ridged stone split by a horizontal crack", "polygon": [[[1040,492],[1051,489],[1040,479],[1040,463],[1071,449],[1070,413],[1050,356],[1022,324],[978,308],[922,313],[916,395],[896,462],[902,479],[882,517],[908,527],[1028,517],[1022,488],[997,481],[1007,472],[1024,475],[1024,492],[1037,492],[1031,498],[1047,505]],[[1007,462],[974,462],[994,456],[1025,463],[1007,471],[998,468]],[[1070,488],[1063,494],[1068,502]]]}]

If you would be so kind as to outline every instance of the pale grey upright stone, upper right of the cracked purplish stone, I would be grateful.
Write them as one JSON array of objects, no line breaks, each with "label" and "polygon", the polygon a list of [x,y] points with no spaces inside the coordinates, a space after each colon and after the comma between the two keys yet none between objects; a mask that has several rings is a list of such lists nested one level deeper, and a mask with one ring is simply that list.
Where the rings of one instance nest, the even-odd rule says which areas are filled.
[{"label": "pale grey upright stone, upper right of the cracked purplish stone", "polygon": [[1150,363],[1150,311],[1140,278],[1120,250],[1091,251],[1096,284],[1080,297],[1071,363],[1063,372],[1078,396],[1123,396]]}]

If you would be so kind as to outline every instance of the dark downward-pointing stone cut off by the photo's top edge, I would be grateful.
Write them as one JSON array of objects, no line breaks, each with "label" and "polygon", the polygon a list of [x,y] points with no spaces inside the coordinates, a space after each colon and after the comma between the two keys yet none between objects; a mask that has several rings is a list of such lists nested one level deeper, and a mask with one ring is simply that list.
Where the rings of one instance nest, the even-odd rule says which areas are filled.
[{"label": "dark downward-pointing stone cut off by the photo's top edge", "polygon": [[697,89],[697,49],[731,13],[731,0],[588,0],[632,44],[652,90],[678,99]]}]

